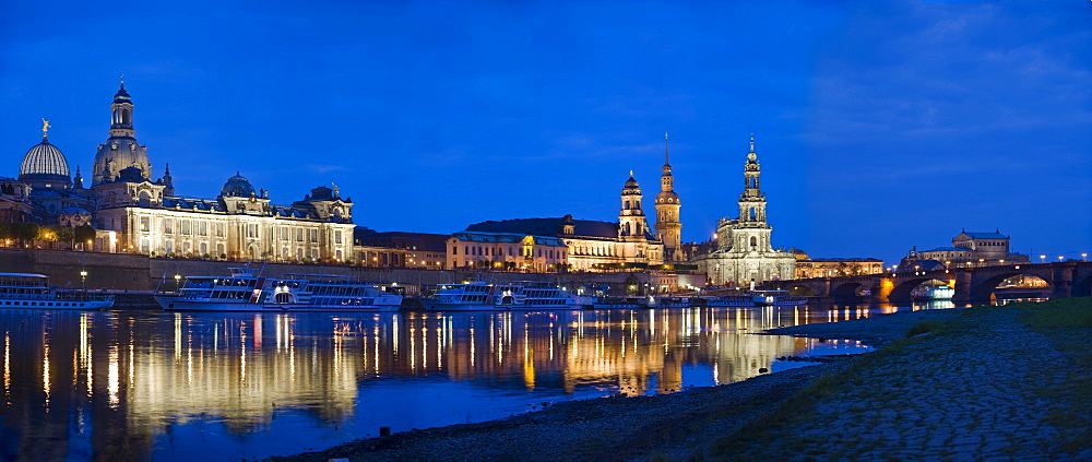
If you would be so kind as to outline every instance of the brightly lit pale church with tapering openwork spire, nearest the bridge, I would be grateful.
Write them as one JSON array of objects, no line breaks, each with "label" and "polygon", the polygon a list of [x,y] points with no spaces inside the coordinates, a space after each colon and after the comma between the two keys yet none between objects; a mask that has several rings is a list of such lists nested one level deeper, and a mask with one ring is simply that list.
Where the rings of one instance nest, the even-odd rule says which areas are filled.
[{"label": "brightly lit pale church with tapering openwork spire, nearest the bridge", "polygon": [[739,194],[738,218],[717,222],[714,245],[698,258],[709,283],[748,286],[763,281],[794,277],[796,258],[792,252],[774,250],[773,226],[767,222],[765,193],[761,189],[761,168],[755,152],[755,139],[744,164],[744,191]]}]

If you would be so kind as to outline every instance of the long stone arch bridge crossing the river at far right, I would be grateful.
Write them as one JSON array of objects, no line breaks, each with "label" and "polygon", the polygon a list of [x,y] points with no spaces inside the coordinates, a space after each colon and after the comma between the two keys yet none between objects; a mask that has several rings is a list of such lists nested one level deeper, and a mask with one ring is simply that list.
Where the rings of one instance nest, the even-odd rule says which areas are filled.
[{"label": "long stone arch bridge crossing the river at far right", "polygon": [[[956,288],[953,301],[988,303],[1001,281],[1019,275],[1032,275],[1046,281],[1051,286],[1051,298],[1092,296],[1092,262],[1087,261],[768,281],[761,286],[809,292],[812,296],[830,297],[835,301],[904,304],[911,301],[911,291],[915,287],[930,280],[939,280]],[[862,295],[863,293],[867,295]]]}]

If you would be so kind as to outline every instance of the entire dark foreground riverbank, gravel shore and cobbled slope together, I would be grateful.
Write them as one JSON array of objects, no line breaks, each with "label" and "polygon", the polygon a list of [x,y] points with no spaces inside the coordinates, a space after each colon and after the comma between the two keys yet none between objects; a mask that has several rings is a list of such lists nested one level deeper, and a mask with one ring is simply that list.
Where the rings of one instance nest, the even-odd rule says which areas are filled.
[{"label": "entire dark foreground riverbank, gravel shore and cobbled slope together", "polygon": [[1092,299],[771,333],[883,346],[739,383],[566,402],[287,459],[1092,460]]}]

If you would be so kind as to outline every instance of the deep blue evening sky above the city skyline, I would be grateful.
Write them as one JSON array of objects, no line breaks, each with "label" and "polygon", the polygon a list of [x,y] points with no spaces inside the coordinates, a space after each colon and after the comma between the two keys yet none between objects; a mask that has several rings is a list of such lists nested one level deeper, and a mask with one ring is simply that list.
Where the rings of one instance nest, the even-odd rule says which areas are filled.
[{"label": "deep blue evening sky above the city skyline", "polygon": [[753,133],[775,246],[1092,252],[1089,1],[147,3],[0,3],[0,175],[43,117],[86,174],[124,73],[181,196],[238,170],[283,204],[336,183],[379,230],[610,221],[669,131],[703,240]]}]

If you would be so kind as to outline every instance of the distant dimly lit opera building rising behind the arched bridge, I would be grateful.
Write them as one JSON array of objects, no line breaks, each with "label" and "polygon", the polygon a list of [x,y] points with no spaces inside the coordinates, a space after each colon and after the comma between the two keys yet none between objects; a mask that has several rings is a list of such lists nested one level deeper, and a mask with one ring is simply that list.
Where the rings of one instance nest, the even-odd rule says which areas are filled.
[{"label": "distant dimly lit opera building rising behind the arched bridge", "polygon": [[914,247],[902,259],[899,268],[903,271],[934,268],[966,268],[978,265],[997,265],[1011,263],[1028,263],[1031,259],[1022,253],[1009,250],[1010,237],[1000,233],[968,233],[966,229],[952,238],[952,245],[918,251]]}]

